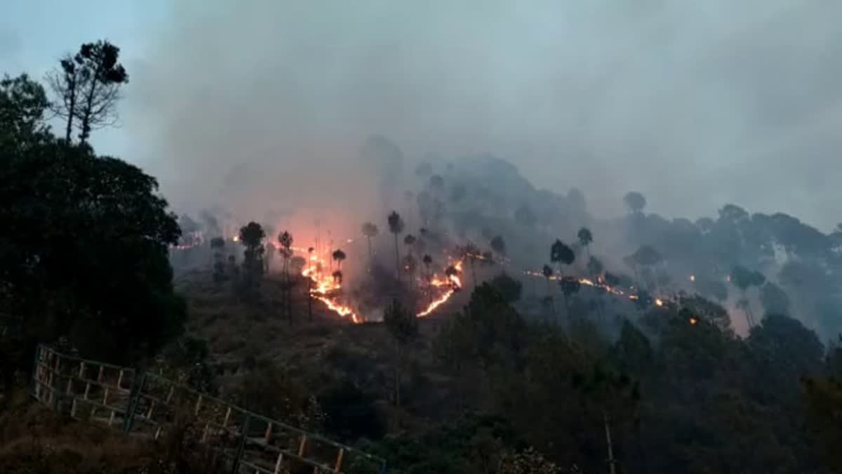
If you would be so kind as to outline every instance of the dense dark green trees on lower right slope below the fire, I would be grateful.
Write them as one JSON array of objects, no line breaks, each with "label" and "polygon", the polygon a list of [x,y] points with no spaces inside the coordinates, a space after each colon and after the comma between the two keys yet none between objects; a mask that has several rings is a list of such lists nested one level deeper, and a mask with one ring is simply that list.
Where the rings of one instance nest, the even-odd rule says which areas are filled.
[{"label": "dense dark green trees on lower right slope below the fire", "polygon": [[836,472],[819,456],[839,439],[842,391],[815,333],[770,315],[743,339],[716,304],[683,303],[621,321],[611,340],[589,320],[528,323],[483,284],[435,344],[457,377],[485,387],[466,387],[468,408],[491,400],[491,426],[508,428],[466,418],[377,449],[406,472],[487,472],[527,446],[557,466],[542,469],[605,472],[608,431],[618,472]]}]

